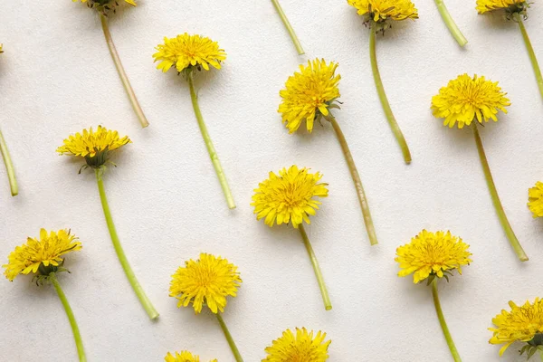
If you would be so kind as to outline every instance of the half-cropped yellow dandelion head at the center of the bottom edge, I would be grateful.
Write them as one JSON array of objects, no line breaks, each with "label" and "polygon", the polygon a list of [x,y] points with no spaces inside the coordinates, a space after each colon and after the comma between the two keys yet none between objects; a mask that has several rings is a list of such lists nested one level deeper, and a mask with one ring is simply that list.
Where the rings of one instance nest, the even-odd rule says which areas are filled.
[{"label": "half-cropped yellow dandelion head at the center of the bottom edge", "polygon": [[308,332],[305,328],[297,328],[296,335],[287,329],[265,349],[268,356],[262,362],[324,362],[329,358],[328,348],[332,342],[325,338],[326,333],[320,330],[314,336],[312,330]]}]

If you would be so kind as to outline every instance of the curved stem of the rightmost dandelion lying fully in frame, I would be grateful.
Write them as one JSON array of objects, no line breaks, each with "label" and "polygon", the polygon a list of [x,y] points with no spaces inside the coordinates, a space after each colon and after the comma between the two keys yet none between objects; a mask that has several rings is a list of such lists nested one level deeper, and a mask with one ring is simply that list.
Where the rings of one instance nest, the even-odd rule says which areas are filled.
[{"label": "curved stem of the rightmost dandelion lying fully in frame", "polygon": [[477,123],[478,122],[476,120],[473,120],[473,124],[472,124],[473,134],[475,135],[475,142],[477,143],[477,151],[479,152],[479,158],[481,158],[481,166],[484,171],[484,176],[486,178],[487,186],[489,186],[489,191],[491,192],[492,203],[494,204],[496,213],[498,214],[498,217],[500,218],[501,226],[503,227],[503,230],[507,234],[507,237],[509,238],[509,241],[513,250],[519,256],[520,262],[526,262],[528,261],[528,256],[526,255],[526,252],[524,252],[524,249],[522,249],[522,246],[520,246],[519,239],[517,239],[517,235],[515,235],[515,233],[513,232],[510,222],[507,219],[507,215],[505,214],[505,211],[503,210],[503,206],[501,205],[500,196],[498,195],[498,191],[496,190],[496,185],[494,185],[494,179],[492,178],[491,167],[489,167],[489,162],[484,153],[484,148],[482,148],[482,141],[481,141],[481,136],[479,135],[479,129],[477,129]]}]

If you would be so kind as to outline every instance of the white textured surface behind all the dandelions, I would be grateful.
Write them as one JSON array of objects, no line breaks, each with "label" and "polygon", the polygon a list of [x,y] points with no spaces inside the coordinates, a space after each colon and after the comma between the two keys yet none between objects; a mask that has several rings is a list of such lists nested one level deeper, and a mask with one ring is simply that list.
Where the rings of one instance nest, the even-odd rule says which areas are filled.
[{"label": "white textured surface behind all the dandelions", "polygon": [[[170,275],[199,252],[237,264],[243,286],[224,319],[243,357],[255,362],[283,329],[322,329],[330,361],[445,361],[451,356],[431,291],[396,277],[395,248],[421,229],[450,229],[471,244],[462,277],[440,283],[445,317],[464,361],[498,360],[491,318],[508,300],[541,295],[543,224],[528,188],[543,177],[543,103],[519,29],[475,2],[449,0],[470,43],[459,49],[432,1],[420,19],[378,38],[377,56],[395,116],[413,153],[405,166],[377,99],[368,31],[345,1],[282,0],[307,56],[297,56],[269,1],[142,0],[110,30],[150,127],[140,129],[121,86],[100,20],[69,0],[4,1],[0,11],[0,118],[21,193],[9,196],[0,167],[0,255],[41,227],[71,228],[83,250],[60,278],[90,361],[160,361],[189,349],[204,361],[233,361],[213,316],[177,310]],[[543,62],[543,7],[527,29]],[[155,70],[163,36],[202,33],[228,53],[222,71],[198,77],[200,104],[231,183],[229,211],[205,151],[186,82]],[[339,62],[337,117],[357,162],[380,244],[370,247],[348,168],[333,130],[289,136],[276,113],[279,90],[300,62]],[[482,140],[501,200],[530,261],[521,264],[500,228],[469,129],[443,128],[432,96],[459,73],[500,81],[512,106]],[[160,312],[150,322],[110,243],[93,174],[59,157],[62,139],[103,124],[128,134],[106,189],[119,236],[139,281]],[[252,215],[252,189],[269,171],[296,163],[324,174],[329,198],[308,227],[334,306],[325,311],[300,235]],[[71,329],[52,287],[30,278],[0,282],[0,361],[76,360]],[[523,361],[519,346],[501,360]],[[37,356],[37,357],[36,357]]]}]

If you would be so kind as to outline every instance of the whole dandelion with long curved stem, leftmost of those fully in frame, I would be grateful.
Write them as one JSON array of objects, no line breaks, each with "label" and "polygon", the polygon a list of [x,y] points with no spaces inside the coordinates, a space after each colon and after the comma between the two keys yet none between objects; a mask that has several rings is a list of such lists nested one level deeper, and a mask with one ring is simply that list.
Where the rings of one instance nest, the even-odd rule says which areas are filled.
[{"label": "whole dandelion with long curved stem, leftmost of those fully in frame", "polygon": [[148,313],[149,318],[156,319],[158,317],[157,310],[155,310],[153,304],[148,299],[147,294],[139,284],[134,271],[132,271],[132,268],[130,267],[122,245],[120,244],[104,187],[103,176],[108,164],[112,164],[110,161],[111,152],[117,151],[119,148],[122,148],[129,143],[131,143],[131,141],[128,136],[120,137],[118,131],[98,126],[98,129],[96,130],[93,130],[92,128],[83,129],[81,132],[64,139],[62,146],[57,148],[57,152],[61,155],[83,158],[86,164],[80,168],[80,173],[82,169],[87,167],[94,169],[101,205],[104,210],[108,229],[110,230],[111,242],[117,252],[119,262],[129,279],[132,289],[136,292],[138,300]]}]

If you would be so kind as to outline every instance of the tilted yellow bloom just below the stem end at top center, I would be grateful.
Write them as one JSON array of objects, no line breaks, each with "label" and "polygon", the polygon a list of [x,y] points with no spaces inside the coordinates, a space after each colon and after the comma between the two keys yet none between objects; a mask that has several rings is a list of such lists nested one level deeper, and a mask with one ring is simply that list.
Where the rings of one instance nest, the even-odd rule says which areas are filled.
[{"label": "tilted yellow bloom just below the stem end at top center", "polygon": [[278,110],[289,133],[298,130],[303,120],[311,132],[315,119],[329,115],[330,105],[339,98],[341,76],[336,75],[337,68],[338,63],[315,59],[307,66],[300,65],[300,71],[289,77],[279,92],[282,102]]}]

